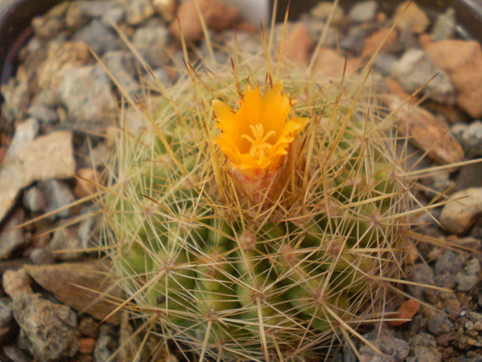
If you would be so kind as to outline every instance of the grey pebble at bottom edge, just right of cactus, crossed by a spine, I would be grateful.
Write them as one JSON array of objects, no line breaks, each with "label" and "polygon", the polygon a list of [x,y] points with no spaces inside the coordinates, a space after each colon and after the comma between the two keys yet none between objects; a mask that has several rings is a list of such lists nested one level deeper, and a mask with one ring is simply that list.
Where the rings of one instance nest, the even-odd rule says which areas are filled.
[{"label": "grey pebble at bottom edge, just right of cactus, crossed by a spine", "polygon": [[[408,356],[408,343],[403,339],[399,339],[392,335],[389,330],[382,330],[379,333],[377,330],[364,334],[364,337],[373,342],[381,352],[384,352],[390,361],[405,361]],[[359,348],[359,354],[362,356],[362,361],[382,362],[386,361],[384,356],[381,356],[373,351],[368,345],[362,345]]]}]

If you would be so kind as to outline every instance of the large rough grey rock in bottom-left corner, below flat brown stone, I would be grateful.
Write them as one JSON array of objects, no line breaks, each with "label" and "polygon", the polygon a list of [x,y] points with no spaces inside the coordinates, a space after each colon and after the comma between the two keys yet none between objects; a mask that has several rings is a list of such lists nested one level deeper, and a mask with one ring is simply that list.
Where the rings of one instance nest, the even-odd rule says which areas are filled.
[{"label": "large rough grey rock in bottom-left corner, below flat brown stone", "polygon": [[13,301],[14,318],[28,339],[30,352],[41,361],[72,357],[78,349],[76,314],[39,294]]}]

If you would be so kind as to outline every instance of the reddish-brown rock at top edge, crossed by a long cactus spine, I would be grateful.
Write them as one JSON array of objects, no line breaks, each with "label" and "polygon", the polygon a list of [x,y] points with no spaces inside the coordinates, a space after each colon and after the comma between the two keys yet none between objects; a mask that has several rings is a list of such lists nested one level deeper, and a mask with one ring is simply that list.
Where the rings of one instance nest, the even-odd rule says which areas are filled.
[{"label": "reddish-brown rock at top edge, crossed by a long cactus spine", "polygon": [[[232,28],[240,21],[240,12],[219,0],[199,0],[199,8],[206,26],[216,31]],[[181,39],[181,32],[188,43],[202,39],[202,27],[196,3],[185,1],[178,6],[176,18],[169,26],[174,37]]]}]

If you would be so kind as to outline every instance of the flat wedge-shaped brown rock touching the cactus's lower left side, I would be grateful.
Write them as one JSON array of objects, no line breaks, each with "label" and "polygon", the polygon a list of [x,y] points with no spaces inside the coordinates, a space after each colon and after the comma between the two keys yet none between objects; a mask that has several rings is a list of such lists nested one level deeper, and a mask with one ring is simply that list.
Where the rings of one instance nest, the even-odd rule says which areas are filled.
[{"label": "flat wedge-shaped brown rock touching the cactus's lower left side", "polygon": [[[102,261],[26,265],[25,269],[36,283],[52,292],[59,301],[95,319],[105,319],[116,308],[116,303],[102,299],[102,294],[112,297],[111,300],[118,299],[122,294],[116,285],[109,282],[108,269]],[[117,325],[118,314],[106,321]]]}]

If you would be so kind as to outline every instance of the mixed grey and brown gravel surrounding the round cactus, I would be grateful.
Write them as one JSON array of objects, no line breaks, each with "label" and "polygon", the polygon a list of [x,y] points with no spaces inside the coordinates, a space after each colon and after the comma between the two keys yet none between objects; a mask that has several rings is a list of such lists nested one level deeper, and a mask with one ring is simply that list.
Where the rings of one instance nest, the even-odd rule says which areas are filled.
[{"label": "mixed grey and brown gravel surrounding the round cactus", "polygon": [[[0,88],[3,96],[2,125],[10,135],[15,130],[8,148],[3,141],[0,143],[0,151],[5,148],[3,152],[6,154],[3,164],[0,161],[0,259],[12,259],[0,261],[3,289],[10,294],[0,298],[0,344],[2,339],[10,343],[0,350],[0,360],[83,361],[85,358],[85,361],[104,362],[118,348],[118,327],[105,323],[99,325],[99,321],[88,314],[77,315],[39,285],[32,285],[30,277],[21,268],[24,263],[41,267],[59,261],[92,258],[92,254],[79,250],[93,246],[96,232],[94,219],[59,228],[60,222],[69,223],[71,217],[83,216],[92,209],[65,208],[43,221],[39,227],[14,226],[78,199],[73,193],[75,182],[70,175],[79,168],[102,172],[108,164],[109,145],[98,134],[107,130],[117,115],[121,101],[119,96],[122,93],[128,97],[134,93],[142,94],[146,91],[145,85],[151,84],[147,83],[151,82],[150,76],[138,66],[132,52],[126,50],[112,23],[121,26],[163,84],[168,85],[184,74],[180,45],[169,30],[169,22],[175,21],[175,3],[172,0],[74,0],[61,3],[45,17],[33,21],[34,37],[21,51],[24,63],[14,77]],[[319,2],[310,14],[301,17],[313,44],[322,34],[322,21],[326,21],[331,5],[328,1]],[[404,4],[397,11],[401,8]],[[359,57],[366,59],[366,54],[373,54],[380,43],[377,39],[385,37],[391,26],[391,19],[383,19],[381,12],[383,9],[378,7],[377,1],[371,0],[359,1],[346,11],[339,6],[335,9],[326,47],[330,51],[337,47],[342,50],[339,54],[333,53],[336,54],[337,66],[341,67],[345,55],[352,66]],[[219,16],[216,14],[216,17]],[[375,59],[374,77],[394,79],[405,92],[404,100],[438,74],[422,91],[429,100],[427,103],[432,106],[430,117],[435,118],[437,112],[446,114],[441,122],[437,121],[440,124],[450,118],[451,112],[459,112],[456,117],[459,123],[452,124],[449,132],[446,132],[448,125],[440,129],[443,134],[451,132],[454,141],[463,148],[463,154],[457,154],[458,159],[475,159],[482,156],[482,121],[479,119],[482,111],[478,95],[481,94],[478,85],[482,82],[477,78],[479,50],[474,42],[454,42],[455,21],[454,10],[448,8],[430,24],[423,9],[413,3],[398,23],[397,36],[393,37],[389,46],[381,49]],[[215,26],[211,24],[212,28]],[[258,34],[240,30],[235,33],[231,28],[215,34],[213,39],[224,42],[222,45],[228,49],[239,47],[244,54],[262,51]],[[289,29],[293,28],[295,24],[289,23]],[[430,34],[421,34],[426,31]],[[198,34],[199,29],[196,29],[196,37]],[[198,38],[194,40],[198,41]],[[308,47],[308,56],[313,44]],[[445,48],[441,49],[441,46]],[[96,63],[89,47],[101,57],[121,90]],[[195,49],[189,53],[193,63],[197,61],[196,52],[207,54],[205,41]],[[475,55],[471,57],[472,53]],[[217,50],[215,57],[222,62],[229,61],[226,54]],[[356,68],[352,66],[350,70]],[[467,81],[462,84],[457,79]],[[438,106],[442,109],[438,110]],[[142,127],[137,113],[129,114],[128,111],[125,117],[130,132],[135,133]],[[428,129],[427,125],[422,123],[420,128]],[[93,141],[86,141],[86,131],[94,134]],[[1,132],[3,130],[0,130],[0,137]],[[415,133],[417,137],[420,132]],[[430,150],[440,147],[437,152],[442,154],[449,148],[448,143],[429,143]],[[47,145],[57,145],[58,148],[52,152],[66,157],[54,157],[48,153]],[[79,145],[83,145],[82,152]],[[75,157],[74,150],[78,153]],[[80,155],[88,150],[92,150],[93,162]],[[416,154],[425,151],[428,152],[428,148],[423,151],[414,148]],[[19,170],[17,166],[12,166],[18,165],[19,161],[27,164],[28,169]],[[427,163],[428,167],[439,165],[433,160]],[[66,172],[65,167],[60,168],[60,165],[67,165],[69,171]],[[482,183],[477,167],[477,164],[464,166],[459,171],[459,179],[455,179],[457,172],[452,170],[430,179],[430,187],[436,192],[445,193],[449,186],[454,186],[457,192],[450,195],[450,203],[434,210],[434,214],[441,212],[443,228],[437,230],[437,225],[432,225],[417,231],[430,234],[430,230],[437,230],[430,237],[476,250],[481,248]],[[449,190],[447,194],[451,192]],[[426,220],[430,221],[430,218]],[[53,231],[38,239],[32,238],[32,234],[41,234],[45,228]],[[437,252],[432,246],[424,244],[417,244],[417,248],[426,260],[418,259],[407,268],[408,280],[433,283],[451,291],[440,292],[419,285],[407,285],[406,292],[435,309],[422,304],[421,312],[406,326],[384,327],[381,334],[374,330],[364,336],[386,353],[390,361],[481,361],[479,253],[473,250]],[[54,254],[59,250],[67,252]],[[433,259],[428,255],[434,256]],[[18,270],[5,271],[12,268],[11,265],[16,265],[14,268]],[[12,342],[14,340],[16,342]],[[82,353],[78,352],[78,348]],[[365,345],[360,345],[359,352],[364,361],[384,361]],[[345,362],[356,361],[349,348],[344,350],[343,358]]]}]

